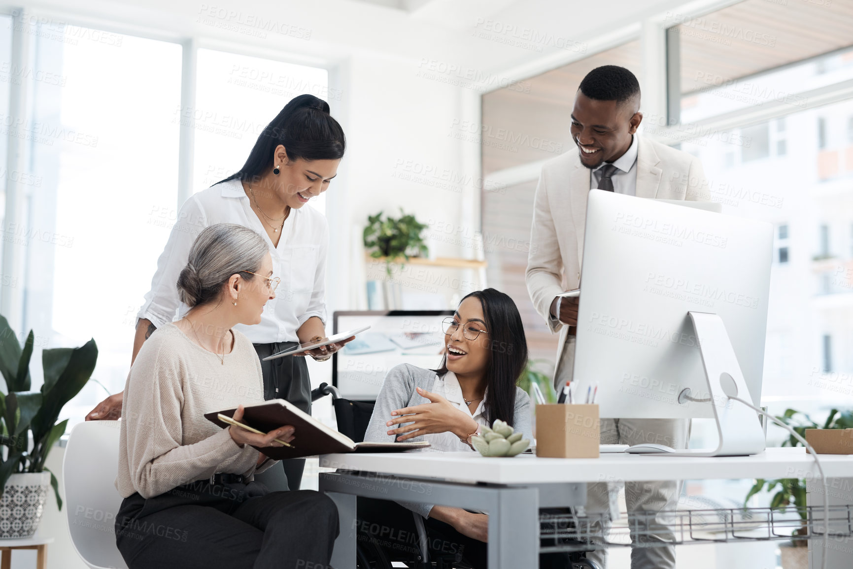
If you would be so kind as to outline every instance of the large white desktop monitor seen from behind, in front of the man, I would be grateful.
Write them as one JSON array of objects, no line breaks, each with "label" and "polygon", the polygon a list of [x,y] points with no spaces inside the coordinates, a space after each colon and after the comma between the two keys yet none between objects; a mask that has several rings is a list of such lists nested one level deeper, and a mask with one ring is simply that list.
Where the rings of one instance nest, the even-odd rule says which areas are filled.
[{"label": "large white desktop monitor seen from behind, in front of the man", "polygon": [[[706,374],[706,368],[719,360],[714,354],[731,352],[721,339],[728,333],[736,363],[728,358],[726,365],[740,365],[748,390],[740,397],[758,405],[772,247],[773,227],[765,222],[590,191],[575,393],[584,397],[597,385],[602,417],[719,419],[737,402],[722,395],[715,408],[683,395],[720,394],[710,391],[709,381],[718,388],[723,374]],[[703,340],[701,351],[691,311],[716,314],[724,325],[721,334],[711,334],[713,345]]]}]

